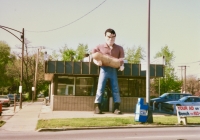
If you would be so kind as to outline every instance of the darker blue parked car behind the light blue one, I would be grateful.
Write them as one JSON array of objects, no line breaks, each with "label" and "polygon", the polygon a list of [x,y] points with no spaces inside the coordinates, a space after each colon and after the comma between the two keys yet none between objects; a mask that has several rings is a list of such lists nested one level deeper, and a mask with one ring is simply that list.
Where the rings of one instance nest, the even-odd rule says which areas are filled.
[{"label": "darker blue parked car behind the light blue one", "polygon": [[188,93],[164,93],[158,98],[150,99],[150,106],[153,107],[153,103],[155,102],[155,108],[159,108],[159,105],[168,101],[178,101],[180,98],[185,96],[192,96],[192,94]]}]

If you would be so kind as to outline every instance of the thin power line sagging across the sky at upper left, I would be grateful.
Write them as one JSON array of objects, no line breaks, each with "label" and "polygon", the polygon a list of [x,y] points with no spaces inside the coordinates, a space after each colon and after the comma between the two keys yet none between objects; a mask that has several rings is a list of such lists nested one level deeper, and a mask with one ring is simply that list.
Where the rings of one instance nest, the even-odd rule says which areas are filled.
[{"label": "thin power line sagging across the sky at upper left", "polygon": [[77,21],[79,21],[80,19],[84,18],[85,16],[89,15],[90,13],[92,13],[94,10],[96,10],[97,8],[99,8],[104,2],[106,2],[106,0],[104,0],[102,3],[100,3],[97,7],[95,7],[94,9],[92,9],[91,11],[89,11],[88,13],[86,13],[85,15],[79,17],[78,19],[64,25],[64,26],[61,26],[61,27],[57,27],[57,28],[54,28],[54,29],[50,29],[50,30],[44,30],[44,31],[30,31],[30,30],[26,30],[27,32],[51,32],[51,31],[55,31],[55,30],[58,30],[58,29],[61,29],[61,28],[64,28],[66,26],[69,26]]}]

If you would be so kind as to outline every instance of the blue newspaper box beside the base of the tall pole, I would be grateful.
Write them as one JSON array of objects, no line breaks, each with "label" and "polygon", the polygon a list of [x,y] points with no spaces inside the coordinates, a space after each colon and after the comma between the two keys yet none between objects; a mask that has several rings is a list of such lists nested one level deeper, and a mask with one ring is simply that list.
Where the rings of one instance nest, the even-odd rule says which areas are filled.
[{"label": "blue newspaper box beside the base of the tall pole", "polygon": [[144,104],[143,98],[138,98],[135,110],[135,121],[145,123],[148,118],[148,105]]}]

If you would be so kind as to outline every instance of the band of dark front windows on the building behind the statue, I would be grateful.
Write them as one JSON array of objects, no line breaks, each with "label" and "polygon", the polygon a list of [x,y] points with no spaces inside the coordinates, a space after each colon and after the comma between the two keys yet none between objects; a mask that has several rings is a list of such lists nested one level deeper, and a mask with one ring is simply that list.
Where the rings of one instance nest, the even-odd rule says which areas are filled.
[{"label": "band of dark front windows on the building behind the statue", "polygon": [[[57,95],[65,96],[95,96],[98,84],[96,77],[58,76]],[[133,78],[118,78],[121,97],[145,97],[146,80]],[[109,81],[105,92],[112,96]]]}]

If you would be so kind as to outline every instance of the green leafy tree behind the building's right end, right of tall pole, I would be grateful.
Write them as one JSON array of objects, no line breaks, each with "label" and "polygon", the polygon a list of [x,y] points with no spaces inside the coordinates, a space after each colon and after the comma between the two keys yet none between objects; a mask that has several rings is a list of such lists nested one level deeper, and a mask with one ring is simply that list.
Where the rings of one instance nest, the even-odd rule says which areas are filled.
[{"label": "green leafy tree behind the building's right end, right of tall pole", "polygon": [[158,93],[160,86],[161,94],[165,92],[180,92],[182,81],[180,81],[176,76],[176,74],[174,73],[174,67],[172,65],[175,59],[174,52],[170,51],[168,46],[165,46],[161,48],[160,52],[156,53],[154,58],[163,56],[165,57],[164,77],[160,78],[160,85],[158,82],[159,80],[154,79],[153,82],[151,83],[152,88],[156,93]]}]

